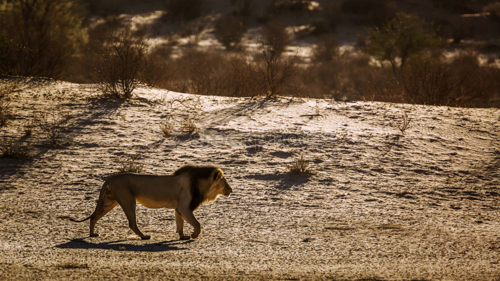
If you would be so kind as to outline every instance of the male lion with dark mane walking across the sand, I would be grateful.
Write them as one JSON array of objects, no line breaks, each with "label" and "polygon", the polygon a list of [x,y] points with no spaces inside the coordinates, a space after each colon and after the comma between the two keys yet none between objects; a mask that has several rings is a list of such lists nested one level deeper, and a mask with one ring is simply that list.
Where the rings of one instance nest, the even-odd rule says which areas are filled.
[{"label": "male lion with dark mane walking across the sand", "polygon": [[[222,170],[215,165],[185,165],[173,175],[152,175],[122,173],[111,176],[100,189],[99,199],[94,212],[81,222],[90,219],[90,236],[99,236],[94,232],[95,223],[108,211],[120,204],[128,219],[128,226],[141,239],[149,239],[137,227],[135,221],[136,201],[148,208],[175,209],[175,224],[179,239],[196,238],[200,224],[192,213],[201,204],[215,200],[217,195],[228,197],[232,189],[224,178]],[[192,225],[191,236],[184,235],[184,220]]]}]

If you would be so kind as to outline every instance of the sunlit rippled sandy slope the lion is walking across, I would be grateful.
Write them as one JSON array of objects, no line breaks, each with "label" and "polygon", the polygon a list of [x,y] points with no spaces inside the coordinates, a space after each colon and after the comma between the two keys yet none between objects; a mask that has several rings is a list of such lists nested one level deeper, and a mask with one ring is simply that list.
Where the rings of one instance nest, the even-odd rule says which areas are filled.
[{"label": "sunlit rippled sandy slope the lion is walking across", "polygon": [[[159,123],[186,113],[172,101],[197,97],[137,93],[101,102],[43,80],[16,93],[2,136],[56,105],[73,118],[61,147],[35,130],[31,160],[0,159],[0,279],[500,278],[500,110],[321,100],[317,116],[315,100],[202,96],[199,137],[164,138]],[[402,110],[404,136],[390,125]],[[301,152],[315,175],[285,173]],[[196,212],[195,240],[176,239],[172,210],[142,206],[151,240],[119,207],[87,237],[67,218],[88,215],[135,153],[148,173],[216,163],[235,192]]]}]

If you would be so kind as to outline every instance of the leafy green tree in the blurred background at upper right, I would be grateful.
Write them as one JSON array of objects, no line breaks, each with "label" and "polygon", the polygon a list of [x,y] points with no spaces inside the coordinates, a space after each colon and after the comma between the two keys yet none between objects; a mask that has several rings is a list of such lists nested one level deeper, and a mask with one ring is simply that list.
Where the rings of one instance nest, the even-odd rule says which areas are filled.
[{"label": "leafy green tree in the blurred background at upper right", "polygon": [[399,12],[382,27],[368,28],[364,51],[380,61],[388,60],[394,74],[411,56],[444,43],[428,22]]}]

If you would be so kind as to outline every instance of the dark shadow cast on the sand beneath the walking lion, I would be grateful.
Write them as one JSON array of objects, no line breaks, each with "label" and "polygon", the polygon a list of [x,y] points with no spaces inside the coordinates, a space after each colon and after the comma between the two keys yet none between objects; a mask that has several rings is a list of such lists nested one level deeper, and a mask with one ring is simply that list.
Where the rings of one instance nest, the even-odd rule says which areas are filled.
[{"label": "dark shadow cast on the sand beneath the walking lion", "polygon": [[71,239],[65,243],[55,245],[56,248],[73,248],[73,249],[110,249],[110,250],[122,250],[122,251],[168,251],[168,250],[185,250],[186,247],[180,245],[185,245],[191,243],[193,240],[168,240],[162,242],[154,242],[148,244],[130,244],[122,243],[125,241],[133,241],[133,239],[127,240],[115,240],[106,241],[100,243],[93,243],[85,241],[84,238]]}]

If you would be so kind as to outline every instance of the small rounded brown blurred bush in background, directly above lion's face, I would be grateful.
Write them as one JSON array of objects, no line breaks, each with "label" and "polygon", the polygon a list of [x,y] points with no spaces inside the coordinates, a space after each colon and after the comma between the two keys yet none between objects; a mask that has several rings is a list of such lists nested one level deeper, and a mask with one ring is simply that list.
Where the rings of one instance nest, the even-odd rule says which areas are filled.
[{"label": "small rounded brown blurred bush in background, directly above lion's face", "polygon": [[220,16],[215,21],[213,29],[215,38],[228,49],[238,46],[244,32],[246,32],[244,18],[232,14]]}]

